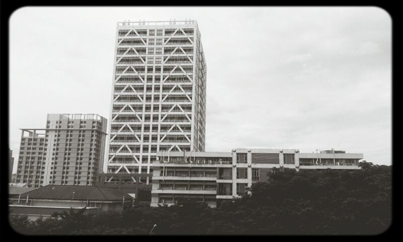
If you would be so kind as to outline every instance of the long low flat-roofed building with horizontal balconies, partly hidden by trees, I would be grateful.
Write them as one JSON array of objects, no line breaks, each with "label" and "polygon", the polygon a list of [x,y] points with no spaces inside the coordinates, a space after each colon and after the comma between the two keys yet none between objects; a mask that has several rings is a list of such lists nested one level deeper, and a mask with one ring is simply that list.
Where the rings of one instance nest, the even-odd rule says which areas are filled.
[{"label": "long low flat-roofed building with horizontal balconies, partly hidden by trees", "polygon": [[234,149],[232,152],[158,152],[154,162],[151,206],[180,199],[216,207],[223,199],[245,194],[267,181],[274,167],[293,169],[359,169],[363,154],[300,153],[295,149]]}]

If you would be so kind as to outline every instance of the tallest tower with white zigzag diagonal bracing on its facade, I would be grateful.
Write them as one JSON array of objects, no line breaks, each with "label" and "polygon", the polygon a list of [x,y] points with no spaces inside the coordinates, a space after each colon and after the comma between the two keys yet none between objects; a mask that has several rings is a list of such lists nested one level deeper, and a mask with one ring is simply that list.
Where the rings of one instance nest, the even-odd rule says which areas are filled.
[{"label": "tallest tower with white zigzag diagonal bracing on its facade", "polygon": [[107,173],[152,173],[158,151],[204,151],[206,61],[196,21],[117,23],[111,103]]}]

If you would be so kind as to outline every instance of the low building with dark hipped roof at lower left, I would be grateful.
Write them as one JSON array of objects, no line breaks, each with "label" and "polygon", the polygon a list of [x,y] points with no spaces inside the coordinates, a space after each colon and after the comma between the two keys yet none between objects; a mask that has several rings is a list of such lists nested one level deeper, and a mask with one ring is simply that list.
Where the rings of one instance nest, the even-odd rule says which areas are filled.
[{"label": "low building with dark hipped roof at lower left", "polygon": [[114,188],[97,186],[47,185],[9,198],[11,216],[27,215],[28,219],[50,217],[54,212],[86,208],[85,214],[99,211],[121,211],[133,206],[134,199]]}]

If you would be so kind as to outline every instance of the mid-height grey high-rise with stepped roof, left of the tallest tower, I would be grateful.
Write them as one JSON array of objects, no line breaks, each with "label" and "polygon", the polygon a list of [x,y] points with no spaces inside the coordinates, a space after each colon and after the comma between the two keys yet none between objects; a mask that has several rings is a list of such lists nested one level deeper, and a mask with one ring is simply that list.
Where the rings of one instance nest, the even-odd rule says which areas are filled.
[{"label": "mid-height grey high-rise with stepped roof, left of the tallest tower", "polygon": [[102,172],[106,118],[48,114],[46,129],[22,129],[16,183],[93,185]]}]

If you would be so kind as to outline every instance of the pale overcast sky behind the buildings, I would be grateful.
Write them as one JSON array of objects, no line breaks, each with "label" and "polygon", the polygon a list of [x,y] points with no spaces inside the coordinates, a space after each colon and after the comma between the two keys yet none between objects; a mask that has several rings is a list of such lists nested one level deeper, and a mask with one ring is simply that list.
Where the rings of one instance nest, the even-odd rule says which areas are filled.
[{"label": "pale overcast sky behind the buildings", "polygon": [[206,151],[316,149],[391,164],[391,19],[367,8],[22,8],[10,19],[10,148],[47,113],[109,119],[116,22],[193,19]]}]

